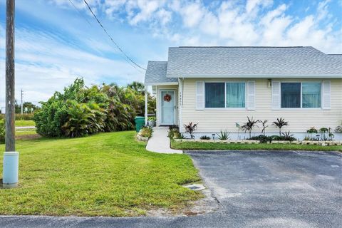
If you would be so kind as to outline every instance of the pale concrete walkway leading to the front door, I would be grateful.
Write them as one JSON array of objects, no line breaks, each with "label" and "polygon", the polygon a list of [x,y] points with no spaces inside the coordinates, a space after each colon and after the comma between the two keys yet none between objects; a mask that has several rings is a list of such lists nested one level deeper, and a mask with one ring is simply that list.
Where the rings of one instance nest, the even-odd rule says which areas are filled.
[{"label": "pale concrete walkway leading to the front door", "polygon": [[148,140],[146,150],[164,154],[182,154],[182,150],[172,150],[170,148],[170,138],[167,137],[167,130],[169,128],[153,128],[152,138]]}]

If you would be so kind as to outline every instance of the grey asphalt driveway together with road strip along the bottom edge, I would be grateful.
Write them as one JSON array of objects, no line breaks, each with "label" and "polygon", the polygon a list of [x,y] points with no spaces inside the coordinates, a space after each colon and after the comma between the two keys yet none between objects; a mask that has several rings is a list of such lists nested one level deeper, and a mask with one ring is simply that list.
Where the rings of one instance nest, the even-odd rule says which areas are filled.
[{"label": "grey asphalt driveway together with road strip along the bottom edge", "polygon": [[187,152],[219,202],[194,217],[0,217],[0,227],[342,227],[338,152]]}]

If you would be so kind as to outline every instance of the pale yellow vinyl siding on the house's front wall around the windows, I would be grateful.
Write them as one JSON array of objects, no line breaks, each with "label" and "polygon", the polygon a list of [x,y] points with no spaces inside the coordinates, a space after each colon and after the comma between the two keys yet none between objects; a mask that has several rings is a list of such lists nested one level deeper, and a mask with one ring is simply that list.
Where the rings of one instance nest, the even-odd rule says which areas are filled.
[{"label": "pale yellow vinyl siding on the house's front wall around the windows", "polygon": [[[255,110],[234,110],[234,109],[204,109],[196,110],[196,81],[203,79],[184,80],[184,94],[182,106],[182,123],[198,123],[197,133],[217,133],[219,130],[237,132],[235,123],[242,125],[249,118],[269,120],[268,133],[277,133],[277,129],[271,125],[276,118],[285,118],[289,126],[283,131],[290,130],[291,133],[305,133],[312,126],[316,128],[333,128],[341,125],[342,121],[342,79],[331,79],[331,110],[321,108],[299,108],[271,110],[271,87],[268,87],[267,79],[246,78],[243,81],[255,81]],[[329,79],[277,79],[276,81],[323,81]],[[204,80],[205,81],[205,80]],[[210,78],[208,81],[236,81],[236,78]],[[255,133],[261,129],[254,130]]]}]

